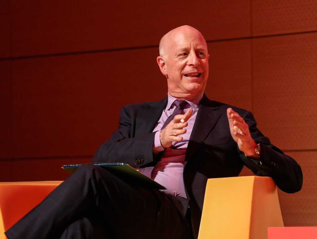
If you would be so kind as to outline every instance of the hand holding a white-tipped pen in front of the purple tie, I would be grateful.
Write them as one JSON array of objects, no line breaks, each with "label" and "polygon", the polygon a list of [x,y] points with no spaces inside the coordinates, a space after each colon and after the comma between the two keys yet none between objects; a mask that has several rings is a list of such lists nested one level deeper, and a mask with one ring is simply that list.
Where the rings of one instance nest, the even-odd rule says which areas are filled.
[{"label": "hand holding a white-tipped pen in front of the purple tie", "polygon": [[[187,120],[191,117],[193,109],[189,109],[185,114],[175,115],[174,119],[161,130],[159,134],[159,139],[161,145],[164,148],[170,147],[173,141],[181,141],[183,137],[178,135],[186,133],[186,126],[188,126]],[[180,120],[184,119],[184,123],[181,123]]]}]

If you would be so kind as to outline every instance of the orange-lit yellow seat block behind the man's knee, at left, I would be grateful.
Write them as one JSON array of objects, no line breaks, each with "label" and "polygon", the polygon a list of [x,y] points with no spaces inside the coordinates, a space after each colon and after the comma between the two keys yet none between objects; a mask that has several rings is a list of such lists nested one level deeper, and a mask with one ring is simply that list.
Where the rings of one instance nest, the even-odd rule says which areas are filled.
[{"label": "orange-lit yellow seat block behind the man's knee, at left", "polygon": [[0,183],[0,239],[62,181]]}]

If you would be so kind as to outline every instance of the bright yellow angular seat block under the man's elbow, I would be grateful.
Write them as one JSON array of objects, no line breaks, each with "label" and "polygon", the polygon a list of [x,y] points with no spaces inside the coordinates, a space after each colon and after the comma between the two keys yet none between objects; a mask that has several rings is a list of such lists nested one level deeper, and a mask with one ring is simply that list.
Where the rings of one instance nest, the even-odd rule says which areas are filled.
[{"label": "bright yellow angular seat block under the man's elbow", "polygon": [[272,178],[208,179],[198,239],[267,239],[268,227],[283,226]]}]

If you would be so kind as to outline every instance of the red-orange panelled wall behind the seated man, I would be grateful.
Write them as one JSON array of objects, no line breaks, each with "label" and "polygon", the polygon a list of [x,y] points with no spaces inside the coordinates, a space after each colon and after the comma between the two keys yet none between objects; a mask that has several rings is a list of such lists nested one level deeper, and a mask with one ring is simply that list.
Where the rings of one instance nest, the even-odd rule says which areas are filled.
[{"label": "red-orange panelled wall behind the seated man", "polygon": [[316,226],[316,12],[314,0],[1,1],[0,181],[90,162],[120,107],[165,97],[158,43],[189,24],[208,42],[209,98],[251,110],[302,167],[302,191],[279,192],[285,225]]}]

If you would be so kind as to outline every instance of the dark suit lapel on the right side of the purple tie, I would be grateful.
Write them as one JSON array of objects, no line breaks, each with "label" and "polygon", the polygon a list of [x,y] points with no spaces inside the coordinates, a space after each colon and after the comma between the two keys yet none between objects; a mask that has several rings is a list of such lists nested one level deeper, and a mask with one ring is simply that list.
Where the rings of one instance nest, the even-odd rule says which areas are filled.
[{"label": "dark suit lapel on the right side of the purple tie", "polygon": [[185,161],[188,161],[192,157],[198,147],[204,142],[212,128],[216,125],[218,119],[222,115],[218,109],[219,107],[214,101],[209,100],[204,94],[189,139]]}]

